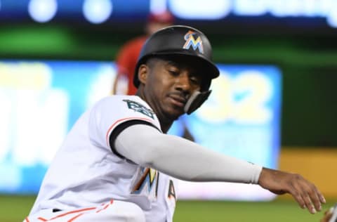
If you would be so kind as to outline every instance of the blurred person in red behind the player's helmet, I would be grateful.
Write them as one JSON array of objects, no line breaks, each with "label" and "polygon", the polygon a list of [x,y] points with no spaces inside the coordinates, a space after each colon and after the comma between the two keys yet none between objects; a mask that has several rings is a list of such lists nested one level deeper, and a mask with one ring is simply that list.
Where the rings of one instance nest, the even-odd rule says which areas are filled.
[{"label": "blurred person in red behind the player's helmet", "polygon": [[145,34],[127,41],[121,47],[116,57],[117,77],[112,86],[112,94],[135,95],[136,87],[133,86],[133,74],[135,72],[140,49],[147,37],[157,30],[173,24],[173,15],[169,11],[151,13],[145,25]]}]

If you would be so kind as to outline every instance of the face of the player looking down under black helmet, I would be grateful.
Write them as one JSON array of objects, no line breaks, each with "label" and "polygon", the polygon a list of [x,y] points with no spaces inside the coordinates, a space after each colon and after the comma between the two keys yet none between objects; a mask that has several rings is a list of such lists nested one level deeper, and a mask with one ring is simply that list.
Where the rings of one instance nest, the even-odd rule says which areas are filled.
[{"label": "face of the player looking down under black helmet", "polygon": [[184,114],[185,104],[194,91],[201,87],[201,68],[188,58],[147,63],[145,97],[160,117],[175,120]]}]

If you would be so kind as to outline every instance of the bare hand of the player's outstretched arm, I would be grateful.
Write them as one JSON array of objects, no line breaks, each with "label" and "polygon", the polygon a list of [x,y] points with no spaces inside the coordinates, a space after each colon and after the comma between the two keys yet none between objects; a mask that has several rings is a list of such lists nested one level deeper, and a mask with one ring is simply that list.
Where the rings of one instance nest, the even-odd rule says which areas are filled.
[{"label": "bare hand of the player's outstretched arm", "polygon": [[291,194],[300,207],[312,214],[321,211],[322,203],[326,202],[316,186],[299,174],[263,168],[258,184],[277,195]]}]

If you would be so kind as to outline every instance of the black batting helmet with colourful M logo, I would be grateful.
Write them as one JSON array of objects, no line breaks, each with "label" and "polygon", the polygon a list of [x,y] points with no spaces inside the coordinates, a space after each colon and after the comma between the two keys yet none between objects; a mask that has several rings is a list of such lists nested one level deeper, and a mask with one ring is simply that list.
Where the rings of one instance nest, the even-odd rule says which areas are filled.
[{"label": "black batting helmet with colourful M logo", "polygon": [[165,27],[154,34],[145,42],[142,51],[138,57],[135,74],[133,77],[133,84],[138,87],[140,81],[138,79],[138,68],[146,60],[156,55],[184,55],[192,56],[197,60],[197,64],[203,64],[206,70],[207,79],[206,90],[209,89],[211,79],[218,77],[219,70],[212,63],[212,47],[209,39],[193,27],[185,25],[173,25]]}]

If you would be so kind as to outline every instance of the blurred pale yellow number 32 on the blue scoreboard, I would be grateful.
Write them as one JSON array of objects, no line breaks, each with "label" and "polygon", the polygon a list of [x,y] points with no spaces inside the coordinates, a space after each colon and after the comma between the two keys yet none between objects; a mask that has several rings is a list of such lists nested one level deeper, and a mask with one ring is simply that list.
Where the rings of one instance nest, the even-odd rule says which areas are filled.
[{"label": "blurred pale yellow number 32 on the blue scoreboard", "polygon": [[266,124],[272,120],[268,103],[274,94],[272,80],[263,72],[247,70],[239,74],[220,74],[212,82],[212,93],[197,115],[210,122],[234,121],[238,124]]}]

